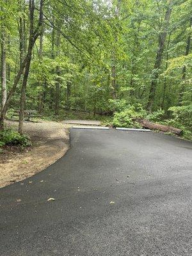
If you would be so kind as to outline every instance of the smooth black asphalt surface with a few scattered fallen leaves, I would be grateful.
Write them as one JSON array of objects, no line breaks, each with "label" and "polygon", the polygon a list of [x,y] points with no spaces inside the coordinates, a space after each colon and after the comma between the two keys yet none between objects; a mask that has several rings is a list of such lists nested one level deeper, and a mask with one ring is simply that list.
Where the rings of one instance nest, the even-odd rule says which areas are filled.
[{"label": "smooth black asphalt surface with a few scattered fallen leaves", "polygon": [[1,256],[192,255],[192,143],[114,130],[70,138],[55,164],[0,189]]}]

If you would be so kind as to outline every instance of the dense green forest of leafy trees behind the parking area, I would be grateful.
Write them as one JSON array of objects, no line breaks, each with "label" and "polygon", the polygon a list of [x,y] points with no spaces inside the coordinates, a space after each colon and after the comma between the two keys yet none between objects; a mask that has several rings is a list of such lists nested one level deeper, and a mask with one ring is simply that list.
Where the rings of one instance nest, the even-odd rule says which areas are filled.
[{"label": "dense green forest of leafy trees behind the parking area", "polygon": [[192,138],[192,0],[0,0],[1,135],[25,109]]}]

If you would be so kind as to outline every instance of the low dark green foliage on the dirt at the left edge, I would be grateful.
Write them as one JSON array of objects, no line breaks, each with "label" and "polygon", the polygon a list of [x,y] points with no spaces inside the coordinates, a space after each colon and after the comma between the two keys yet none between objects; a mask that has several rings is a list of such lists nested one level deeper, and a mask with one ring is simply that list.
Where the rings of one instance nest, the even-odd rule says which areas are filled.
[{"label": "low dark green foliage on the dirt at the left edge", "polygon": [[27,135],[20,135],[19,132],[12,129],[5,129],[0,132],[0,147],[4,145],[19,145],[21,147],[28,147],[31,145]]}]

